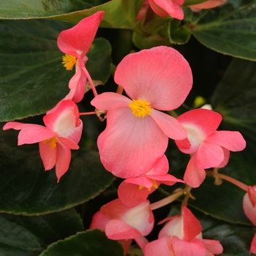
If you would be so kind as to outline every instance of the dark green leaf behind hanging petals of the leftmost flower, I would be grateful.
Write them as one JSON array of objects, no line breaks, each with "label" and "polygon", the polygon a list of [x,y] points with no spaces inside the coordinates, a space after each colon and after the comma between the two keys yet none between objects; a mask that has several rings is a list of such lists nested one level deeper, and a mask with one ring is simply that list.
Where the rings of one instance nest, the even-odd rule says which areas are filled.
[{"label": "dark green leaf behind hanging petals of the leftmost flower", "polygon": [[72,208],[99,195],[115,179],[97,151],[72,151],[67,173],[56,182],[55,170],[44,171],[38,144],[17,146],[17,133],[0,132],[0,211],[47,214]]}]

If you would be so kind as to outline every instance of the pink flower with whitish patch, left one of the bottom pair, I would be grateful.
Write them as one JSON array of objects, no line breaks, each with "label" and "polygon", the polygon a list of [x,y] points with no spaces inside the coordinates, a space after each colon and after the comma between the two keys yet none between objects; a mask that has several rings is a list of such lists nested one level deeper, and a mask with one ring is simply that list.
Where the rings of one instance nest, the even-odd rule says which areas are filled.
[{"label": "pink flower with whitish patch, left one of the bottom pair", "polygon": [[[94,214],[89,228],[99,228],[105,231],[108,238],[122,241],[147,236],[153,227],[154,215],[148,200],[129,208],[116,199],[102,206],[100,211]],[[128,246],[127,244],[123,245]]]}]

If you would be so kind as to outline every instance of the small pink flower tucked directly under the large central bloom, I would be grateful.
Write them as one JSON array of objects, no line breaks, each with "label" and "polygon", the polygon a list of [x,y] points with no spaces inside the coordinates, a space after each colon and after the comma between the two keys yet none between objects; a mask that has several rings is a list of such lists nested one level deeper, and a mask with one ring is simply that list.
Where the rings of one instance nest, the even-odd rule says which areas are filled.
[{"label": "small pink flower tucked directly under the large central bloom", "polygon": [[142,176],[127,178],[118,187],[118,197],[128,207],[137,206],[142,203],[149,194],[154,192],[160,184],[172,186],[180,179],[168,174],[169,164],[167,157],[163,155],[154,167]]}]

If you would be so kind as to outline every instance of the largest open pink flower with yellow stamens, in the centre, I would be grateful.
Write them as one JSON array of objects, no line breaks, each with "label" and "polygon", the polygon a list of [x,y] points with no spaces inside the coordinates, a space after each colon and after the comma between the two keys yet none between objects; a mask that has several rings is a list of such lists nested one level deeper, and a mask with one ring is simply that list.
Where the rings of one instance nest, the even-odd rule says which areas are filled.
[{"label": "largest open pink flower with yellow stamens, in the centre", "polygon": [[173,110],[184,102],[192,72],[177,50],[159,46],[124,57],[114,80],[131,99],[105,92],[91,101],[98,110],[108,110],[107,127],[97,140],[99,155],[115,176],[138,177],[162,157],[168,137],[187,137],[176,118],[159,110]]}]

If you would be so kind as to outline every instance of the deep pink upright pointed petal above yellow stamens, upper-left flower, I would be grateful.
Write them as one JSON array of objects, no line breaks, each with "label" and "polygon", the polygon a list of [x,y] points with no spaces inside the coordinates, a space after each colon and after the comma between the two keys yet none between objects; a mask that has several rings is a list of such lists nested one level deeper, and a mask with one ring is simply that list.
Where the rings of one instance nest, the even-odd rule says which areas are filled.
[{"label": "deep pink upright pointed petal above yellow stamens, upper-left flower", "polygon": [[103,19],[103,11],[96,12],[73,26],[71,29],[61,31],[57,38],[57,45],[63,53],[72,56],[83,57],[91,47],[99,23]]}]

